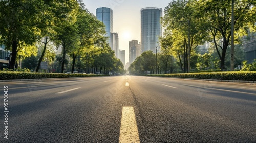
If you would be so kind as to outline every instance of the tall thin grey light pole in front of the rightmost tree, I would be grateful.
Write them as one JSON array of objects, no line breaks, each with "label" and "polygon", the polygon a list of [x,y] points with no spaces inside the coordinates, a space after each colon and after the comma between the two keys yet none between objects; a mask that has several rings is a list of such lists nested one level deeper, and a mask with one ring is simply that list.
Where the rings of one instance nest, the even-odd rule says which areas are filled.
[{"label": "tall thin grey light pole in front of the rightmost tree", "polygon": [[231,21],[231,59],[230,70],[234,71],[234,0],[232,0],[232,21]]}]

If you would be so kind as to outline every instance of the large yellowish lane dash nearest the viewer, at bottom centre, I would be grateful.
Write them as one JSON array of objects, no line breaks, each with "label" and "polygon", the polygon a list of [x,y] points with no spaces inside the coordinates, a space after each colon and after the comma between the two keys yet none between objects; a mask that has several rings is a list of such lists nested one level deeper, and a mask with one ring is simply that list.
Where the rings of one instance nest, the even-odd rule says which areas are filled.
[{"label": "large yellowish lane dash nearest the viewer, at bottom centre", "polygon": [[123,107],[119,142],[140,142],[133,107]]}]

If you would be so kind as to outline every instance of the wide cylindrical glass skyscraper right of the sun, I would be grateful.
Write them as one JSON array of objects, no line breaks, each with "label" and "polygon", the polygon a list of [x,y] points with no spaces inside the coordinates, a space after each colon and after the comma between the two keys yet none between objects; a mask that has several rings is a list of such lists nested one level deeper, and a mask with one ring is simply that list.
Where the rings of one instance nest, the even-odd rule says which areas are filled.
[{"label": "wide cylindrical glass skyscraper right of the sun", "polygon": [[159,46],[158,38],[162,36],[162,26],[160,17],[163,10],[161,8],[142,8],[141,13],[141,50],[142,52],[156,50]]}]

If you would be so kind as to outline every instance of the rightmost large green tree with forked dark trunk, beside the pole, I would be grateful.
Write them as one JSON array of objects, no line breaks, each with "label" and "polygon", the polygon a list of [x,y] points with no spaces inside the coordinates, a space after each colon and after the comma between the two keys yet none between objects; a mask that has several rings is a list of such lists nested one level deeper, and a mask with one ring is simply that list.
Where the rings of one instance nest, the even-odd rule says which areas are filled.
[{"label": "rightmost large green tree with forked dark trunk, beside the pole", "polygon": [[[225,70],[225,59],[231,37],[231,0],[228,1],[197,1],[198,13],[201,22],[207,26],[220,58],[220,68]],[[256,1],[234,1],[234,33],[238,37],[246,34],[249,29],[255,28]]]}]

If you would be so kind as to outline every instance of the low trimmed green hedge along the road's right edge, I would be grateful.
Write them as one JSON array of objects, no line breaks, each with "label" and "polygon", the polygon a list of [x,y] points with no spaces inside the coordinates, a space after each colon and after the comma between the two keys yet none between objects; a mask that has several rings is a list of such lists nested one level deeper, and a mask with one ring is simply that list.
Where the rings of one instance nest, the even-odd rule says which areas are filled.
[{"label": "low trimmed green hedge along the road's right edge", "polygon": [[255,71],[159,74],[159,75],[149,75],[149,76],[175,77],[175,78],[194,78],[194,79],[256,81],[256,72]]}]

